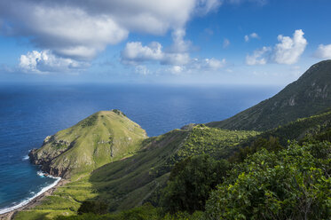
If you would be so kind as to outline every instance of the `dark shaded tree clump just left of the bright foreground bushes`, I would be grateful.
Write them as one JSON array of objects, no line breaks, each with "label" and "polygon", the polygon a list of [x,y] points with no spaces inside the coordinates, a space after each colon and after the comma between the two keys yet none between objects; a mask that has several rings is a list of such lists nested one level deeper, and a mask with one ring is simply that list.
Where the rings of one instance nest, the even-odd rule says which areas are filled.
[{"label": "dark shaded tree clump just left of the bright foreground bushes", "polygon": [[174,214],[204,210],[209,193],[223,181],[228,169],[227,161],[216,161],[206,154],[177,163],[163,190],[164,211]]}]

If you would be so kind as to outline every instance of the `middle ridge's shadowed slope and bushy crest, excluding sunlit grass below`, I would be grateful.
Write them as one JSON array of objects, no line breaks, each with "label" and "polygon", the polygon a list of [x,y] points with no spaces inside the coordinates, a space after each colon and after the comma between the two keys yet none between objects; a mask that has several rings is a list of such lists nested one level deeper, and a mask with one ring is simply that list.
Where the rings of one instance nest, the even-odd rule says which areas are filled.
[{"label": "middle ridge's shadowed slope and bushy crest, excluding sunlit grass below", "polygon": [[133,208],[149,200],[155,190],[166,184],[169,172],[178,161],[203,153],[227,158],[236,145],[256,134],[255,131],[229,131],[205,126],[172,130],[147,139],[144,150],[127,160],[95,170],[90,180],[98,189],[99,200],[107,200],[111,210]]}]

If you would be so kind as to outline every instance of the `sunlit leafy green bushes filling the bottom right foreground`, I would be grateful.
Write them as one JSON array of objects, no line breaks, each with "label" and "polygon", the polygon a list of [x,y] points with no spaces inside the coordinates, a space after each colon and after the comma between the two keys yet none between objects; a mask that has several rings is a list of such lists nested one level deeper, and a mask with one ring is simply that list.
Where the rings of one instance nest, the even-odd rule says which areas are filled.
[{"label": "sunlit leafy green bushes filling the bottom right foreground", "polygon": [[211,193],[208,219],[329,219],[331,144],[263,149],[235,166]]}]

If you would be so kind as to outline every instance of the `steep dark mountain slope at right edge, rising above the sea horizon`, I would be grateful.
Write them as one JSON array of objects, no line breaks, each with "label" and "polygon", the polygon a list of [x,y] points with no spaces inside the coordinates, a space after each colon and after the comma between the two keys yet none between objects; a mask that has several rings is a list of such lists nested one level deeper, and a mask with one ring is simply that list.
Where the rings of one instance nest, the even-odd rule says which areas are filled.
[{"label": "steep dark mountain slope at right edge, rising above the sea horizon", "polygon": [[313,65],[274,97],[225,121],[207,125],[228,130],[270,130],[330,109],[331,60],[326,60]]}]

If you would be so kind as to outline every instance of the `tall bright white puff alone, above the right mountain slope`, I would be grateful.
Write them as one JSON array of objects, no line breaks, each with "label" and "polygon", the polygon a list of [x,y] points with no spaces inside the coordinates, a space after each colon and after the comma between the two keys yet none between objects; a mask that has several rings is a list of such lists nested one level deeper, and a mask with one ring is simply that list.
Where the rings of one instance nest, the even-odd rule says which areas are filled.
[{"label": "tall bright white puff alone, above the right mountain slope", "polygon": [[276,44],[273,52],[274,61],[279,64],[295,64],[303,54],[307,40],[303,37],[303,30],[296,30],[293,38],[279,35],[280,43]]}]

